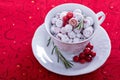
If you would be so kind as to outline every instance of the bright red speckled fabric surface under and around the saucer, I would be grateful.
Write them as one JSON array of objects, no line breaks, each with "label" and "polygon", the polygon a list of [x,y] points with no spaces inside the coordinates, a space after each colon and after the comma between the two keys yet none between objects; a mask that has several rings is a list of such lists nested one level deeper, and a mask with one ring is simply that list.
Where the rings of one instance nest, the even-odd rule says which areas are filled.
[{"label": "bright red speckled fabric surface under and around the saucer", "polygon": [[[103,11],[102,24],[112,50],[96,71],[66,77],[43,68],[35,59],[31,40],[47,12],[62,3],[80,3],[96,13]],[[0,0],[0,80],[120,80],[120,0]]]}]

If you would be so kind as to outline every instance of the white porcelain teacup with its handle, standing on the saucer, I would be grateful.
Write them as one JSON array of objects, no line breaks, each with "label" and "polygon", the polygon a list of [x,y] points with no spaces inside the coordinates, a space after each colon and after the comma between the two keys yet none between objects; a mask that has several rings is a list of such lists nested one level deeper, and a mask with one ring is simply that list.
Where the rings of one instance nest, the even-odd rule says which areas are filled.
[{"label": "white porcelain teacup with its handle, standing on the saucer", "polygon": [[[75,9],[81,9],[82,12],[86,16],[90,16],[90,17],[93,18],[93,20],[94,20],[94,33],[88,39],[85,39],[85,40],[83,40],[79,43],[62,42],[61,40],[54,37],[50,32],[51,19],[56,15],[56,13],[59,13],[59,12],[62,12],[62,11],[73,11]],[[76,4],[76,3],[66,3],[66,4],[56,6],[48,12],[48,14],[46,15],[46,18],[45,18],[45,27],[46,27],[46,30],[47,30],[48,34],[52,38],[54,44],[61,51],[64,51],[64,52],[67,52],[67,53],[79,53],[79,52],[81,52],[81,50],[83,50],[85,48],[85,46],[94,37],[94,35],[97,31],[97,27],[99,27],[99,25],[104,21],[104,19],[105,19],[105,14],[102,11],[100,11],[96,14],[93,10],[91,10],[90,8],[88,8],[84,5]]]}]

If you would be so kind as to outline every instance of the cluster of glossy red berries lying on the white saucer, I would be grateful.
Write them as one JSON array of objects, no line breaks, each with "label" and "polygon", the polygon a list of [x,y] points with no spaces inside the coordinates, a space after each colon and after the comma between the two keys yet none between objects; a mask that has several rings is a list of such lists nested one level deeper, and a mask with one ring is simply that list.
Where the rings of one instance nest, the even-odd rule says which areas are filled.
[{"label": "cluster of glossy red berries lying on the white saucer", "polygon": [[80,62],[81,64],[84,64],[85,62],[91,62],[92,59],[96,56],[96,53],[92,50],[93,45],[88,43],[83,52],[73,57],[73,61]]}]

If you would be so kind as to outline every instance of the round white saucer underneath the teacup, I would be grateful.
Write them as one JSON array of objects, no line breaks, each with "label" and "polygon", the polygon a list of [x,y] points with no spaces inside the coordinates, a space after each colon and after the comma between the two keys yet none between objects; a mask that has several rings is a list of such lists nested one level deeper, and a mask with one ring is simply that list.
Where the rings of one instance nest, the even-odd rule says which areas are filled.
[{"label": "round white saucer underneath the teacup", "polygon": [[[38,27],[32,39],[33,54],[44,68],[60,75],[75,76],[90,73],[102,66],[110,55],[110,39],[107,32],[101,26],[99,26],[95,37],[91,40],[91,43],[94,45],[94,51],[97,54],[96,57],[92,62],[85,64],[73,62],[73,67],[69,69],[66,69],[62,62],[57,62],[55,54],[51,54],[53,46],[52,43],[49,47],[46,46],[48,39],[49,35],[43,24]],[[68,60],[71,60],[75,54],[63,53],[63,55]]]}]

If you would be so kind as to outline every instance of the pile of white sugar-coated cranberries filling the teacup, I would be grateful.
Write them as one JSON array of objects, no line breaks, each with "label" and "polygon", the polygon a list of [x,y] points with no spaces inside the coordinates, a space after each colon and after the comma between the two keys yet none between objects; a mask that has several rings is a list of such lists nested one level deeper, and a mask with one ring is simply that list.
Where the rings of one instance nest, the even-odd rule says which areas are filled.
[{"label": "pile of white sugar-coated cranberries filling the teacup", "polygon": [[93,18],[80,9],[56,13],[51,19],[50,32],[57,39],[67,43],[79,43],[94,32]]}]

